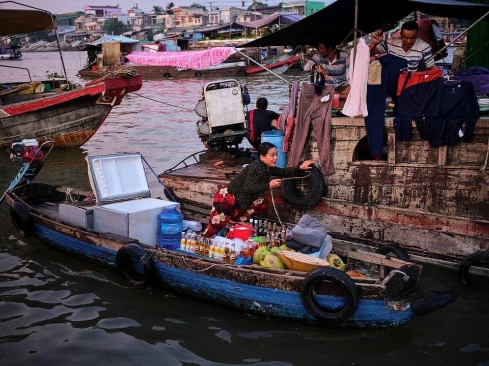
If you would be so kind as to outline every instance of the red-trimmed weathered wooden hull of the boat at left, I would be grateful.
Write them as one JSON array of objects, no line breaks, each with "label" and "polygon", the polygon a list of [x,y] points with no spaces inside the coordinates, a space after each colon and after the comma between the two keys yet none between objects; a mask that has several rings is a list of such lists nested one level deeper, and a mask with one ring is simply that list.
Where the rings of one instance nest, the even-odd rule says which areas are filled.
[{"label": "red-trimmed weathered wooden hull of the boat at left", "polygon": [[141,77],[106,79],[53,96],[0,109],[0,145],[36,138],[56,141],[57,147],[77,147],[99,129],[126,93],[139,90]]}]

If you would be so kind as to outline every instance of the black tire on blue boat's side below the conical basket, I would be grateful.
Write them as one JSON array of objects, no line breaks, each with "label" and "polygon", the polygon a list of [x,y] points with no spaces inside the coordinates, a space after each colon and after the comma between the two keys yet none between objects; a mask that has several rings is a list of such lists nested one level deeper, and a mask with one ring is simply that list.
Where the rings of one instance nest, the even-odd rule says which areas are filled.
[{"label": "black tire on blue boat's side below the conical basket", "polygon": [[[345,304],[340,309],[324,309],[314,297],[316,285],[330,281],[338,285],[345,297]],[[313,317],[324,323],[339,323],[355,314],[359,303],[359,292],[355,282],[346,273],[330,267],[321,267],[310,272],[301,286],[301,300],[304,308]]]}]

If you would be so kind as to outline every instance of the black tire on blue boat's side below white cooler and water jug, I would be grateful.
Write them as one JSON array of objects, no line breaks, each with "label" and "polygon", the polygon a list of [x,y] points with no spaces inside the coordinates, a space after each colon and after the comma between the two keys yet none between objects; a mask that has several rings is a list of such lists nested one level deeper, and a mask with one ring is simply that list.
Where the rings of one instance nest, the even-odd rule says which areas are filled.
[{"label": "black tire on blue boat's side below white cooler and water jug", "polygon": [[[145,250],[141,246],[130,243],[119,248],[116,254],[117,270],[137,288],[147,287],[154,274],[153,259],[149,258],[142,261],[145,253]],[[136,259],[141,263],[141,266],[143,267],[142,275],[136,268],[134,268],[132,263],[133,259]]]}]

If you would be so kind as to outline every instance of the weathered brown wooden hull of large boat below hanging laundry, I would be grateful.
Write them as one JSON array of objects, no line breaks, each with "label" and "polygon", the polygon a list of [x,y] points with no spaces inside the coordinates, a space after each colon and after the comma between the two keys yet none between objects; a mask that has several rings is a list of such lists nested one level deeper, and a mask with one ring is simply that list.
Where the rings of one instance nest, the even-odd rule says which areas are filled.
[{"label": "weathered brown wooden hull of large boat below hanging laundry", "polygon": [[[414,260],[454,269],[467,255],[488,251],[489,178],[480,168],[489,120],[478,120],[472,141],[455,146],[429,147],[415,125],[411,141],[396,141],[392,119],[386,120],[386,133],[387,161],[358,160],[356,148],[366,135],[363,118],[333,118],[336,173],[324,176],[327,190],[307,211],[290,207],[281,192],[274,191],[282,221],[295,223],[307,213],[322,221],[333,237],[357,242],[359,248],[376,250],[395,243]],[[245,163],[216,159],[224,159],[222,169],[228,171],[239,172]],[[302,159],[318,159],[312,130]],[[205,218],[217,186],[231,177],[213,169],[212,162],[203,162],[201,167],[161,174],[160,180],[185,209]],[[265,197],[270,199],[270,194]],[[276,220],[273,208],[264,218]],[[471,271],[489,275],[482,267]]]}]

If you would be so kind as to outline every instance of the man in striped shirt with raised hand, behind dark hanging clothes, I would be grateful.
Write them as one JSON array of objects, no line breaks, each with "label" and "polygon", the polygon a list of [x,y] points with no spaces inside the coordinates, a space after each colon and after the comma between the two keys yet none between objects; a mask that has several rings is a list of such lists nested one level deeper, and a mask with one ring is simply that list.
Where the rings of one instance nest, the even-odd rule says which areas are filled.
[{"label": "man in striped shirt with raised hand, behind dark hanging clothes", "polygon": [[390,53],[404,58],[408,61],[408,71],[416,71],[421,62],[430,69],[434,66],[434,59],[431,57],[431,47],[418,38],[418,23],[408,21],[401,26],[401,38],[391,38],[387,42],[381,29],[377,29],[372,36],[370,44],[370,54]]}]

